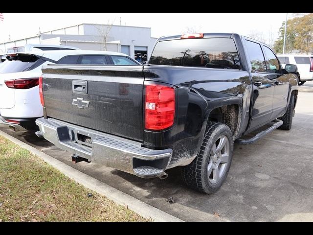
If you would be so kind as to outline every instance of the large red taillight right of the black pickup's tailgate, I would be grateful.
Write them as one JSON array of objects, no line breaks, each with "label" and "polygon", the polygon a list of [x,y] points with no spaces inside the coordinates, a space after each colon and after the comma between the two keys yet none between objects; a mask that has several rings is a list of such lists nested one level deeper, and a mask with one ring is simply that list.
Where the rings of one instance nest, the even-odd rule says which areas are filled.
[{"label": "large red taillight right of the black pickup's tailgate", "polygon": [[162,130],[174,124],[175,89],[163,85],[146,85],[145,127]]}]

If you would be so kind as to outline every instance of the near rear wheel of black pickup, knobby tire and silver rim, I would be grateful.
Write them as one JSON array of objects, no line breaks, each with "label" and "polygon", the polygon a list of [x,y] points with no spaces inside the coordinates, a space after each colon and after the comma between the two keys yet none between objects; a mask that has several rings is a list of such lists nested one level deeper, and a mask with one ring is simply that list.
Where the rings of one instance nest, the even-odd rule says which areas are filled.
[{"label": "near rear wheel of black pickup, knobby tire and silver rim", "polygon": [[[218,149],[220,146],[220,141],[222,145],[222,139],[223,141],[227,141],[228,143],[225,143],[225,148],[221,148],[221,151],[219,152],[219,157],[216,157],[216,155],[212,155],[214,149]],[[215,148],[213,147],[213,144],[215,144]],[[228,161],[224,165],[223,162],[214,162],[214,161],[219,161],[219,159],[222,159],[222,156],[226,152],[226,145],[227,145],[227,151],[228,151]],[[219,188],[221,188],[227,174],[229,171],[229,167],[231,164],[232,160],[232,153],[233,153],[233,137],[232,137],[232,132],[229,129],[229,127],[223,123],[220,122],[209,122],[204,134],[204,139],[200,148],[200,151],[197,155],[197,157],[194,159],[194,161],[186,166],[182,167],[182,179],[183,182],[190,188],[197,189],[201,192],[205,192],[207,194],[213,193],[217,191]],[[224,150],[223,150],[224,149]],[[223,153],[224,151],[224,153]],[[226,153],[227,155],[227,153]],[[216,160],[217,158],[217,160]],[[215,159],[215,160],[214,160]],[[211,174],[208,174],[208,168],[209,164],[213,166],[217,166],[215,168],[218,169],[217,172],[220,172],[222,175],[218,177],[219,180],[216,179],[216,183],[212,183],[214,181],[214,177],[210,179],[210,177],[213,175],[214,169],[211,171]],[[222,169],[223,166],[223,171],[219,171],[219,166],[220,170]],[[219,175],[219,174],[215,174]]]}]

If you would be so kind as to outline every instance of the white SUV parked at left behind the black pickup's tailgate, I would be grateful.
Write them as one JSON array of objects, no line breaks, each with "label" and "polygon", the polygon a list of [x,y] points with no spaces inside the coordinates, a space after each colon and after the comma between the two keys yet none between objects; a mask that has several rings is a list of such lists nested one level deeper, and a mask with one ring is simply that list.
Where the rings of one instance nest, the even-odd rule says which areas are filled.
[{"label": "white SUV parked at left behind the black pickup's tailgate", "polygon": [[0,66],[0,123],[12,129],[35,130],[43,116],[38,80],[43,65],[140,65],[126,54],[111,51],[31,51],[7,55]]}]

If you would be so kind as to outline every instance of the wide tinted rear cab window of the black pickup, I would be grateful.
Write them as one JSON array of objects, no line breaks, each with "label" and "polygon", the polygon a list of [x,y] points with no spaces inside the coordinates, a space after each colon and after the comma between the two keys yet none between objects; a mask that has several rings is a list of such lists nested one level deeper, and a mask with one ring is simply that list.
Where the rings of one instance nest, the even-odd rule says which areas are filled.
[{"label": "wide tinted rear cab window of the black pickup", "polygon": [[197,38],[159,41],[149,64],[240,69],[235,42],[231,38]]}]

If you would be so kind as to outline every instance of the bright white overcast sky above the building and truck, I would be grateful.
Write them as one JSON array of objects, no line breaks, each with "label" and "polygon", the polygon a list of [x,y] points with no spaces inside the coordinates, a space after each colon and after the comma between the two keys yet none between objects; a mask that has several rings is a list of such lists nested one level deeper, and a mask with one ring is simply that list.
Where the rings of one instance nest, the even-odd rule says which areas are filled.
[{"label": "bright white overcast sky above the building and truck", "polygon": [[[113,24],[151,27],[151,36],[160,37],[186,32],[229,32],[249,36],[263,32],[268,38],[286,20],[286,13],[3,13],[0,43],[34,36],[41,32],[75,24]],[[289,13],[292,16],[292,13]]]}]

